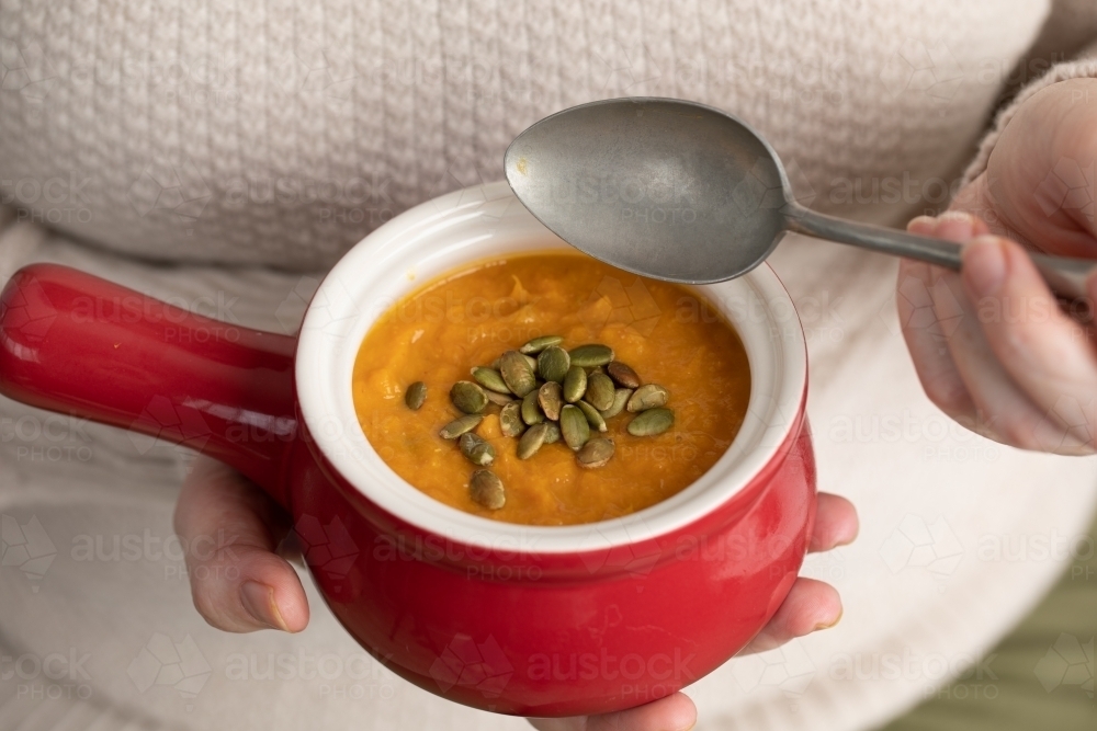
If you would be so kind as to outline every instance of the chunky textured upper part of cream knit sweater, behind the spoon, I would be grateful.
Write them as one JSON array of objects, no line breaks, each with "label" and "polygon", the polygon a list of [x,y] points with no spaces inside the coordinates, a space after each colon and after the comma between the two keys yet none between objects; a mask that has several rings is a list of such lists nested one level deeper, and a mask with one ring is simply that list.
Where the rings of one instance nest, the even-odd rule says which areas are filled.
[{"label": "chunky textured upper part of cream knit sweater, behind the spoon", "polygon": [[894,224],[946,202],[1049,12],[1047,0],[4,2],[2,199],[124,253],[318,270],[400,210],[500,178],[507,144],[542,116],[651,94],[756,126],[812,206]]}]

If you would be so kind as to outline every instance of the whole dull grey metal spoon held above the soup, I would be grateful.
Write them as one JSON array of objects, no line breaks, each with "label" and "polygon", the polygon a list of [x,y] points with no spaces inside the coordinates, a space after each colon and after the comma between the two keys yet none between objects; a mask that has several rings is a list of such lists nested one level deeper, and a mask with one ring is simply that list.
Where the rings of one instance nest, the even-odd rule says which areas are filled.
[{"label": "whole dull grey metal spoon held above the soup", "polygon": [[[504,160],[541,222],[623,270],[705,284],[749,272],[787,231],[960,270],[960,247],[796,203],[777,153],[746,123],[672,99],[573,106],[519,135]],[[1061,297],[1086,296],[1095,264],[1033,254]]]}]

